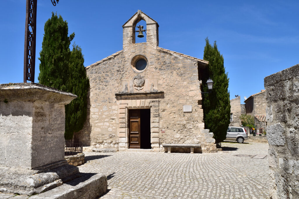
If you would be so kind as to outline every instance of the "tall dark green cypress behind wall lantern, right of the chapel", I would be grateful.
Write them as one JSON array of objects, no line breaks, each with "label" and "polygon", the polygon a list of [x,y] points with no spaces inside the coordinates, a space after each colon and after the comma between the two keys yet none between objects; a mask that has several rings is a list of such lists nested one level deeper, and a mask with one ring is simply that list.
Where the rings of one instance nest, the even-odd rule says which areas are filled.
[{"label": "tall dark green cypress behind wall lantern, right of the chapel", "polygon": [[225,73],[224,59],[220,54],[216,41],[211,46],[208,38],[205,39],[204,60],[209,61],[207,75],[203,78],[203,90],[208,91],[205,84],[210,77],[213,81],[213,90],[203,95],[203,109],[205,128],[214,133],[214,138],[223,141],[230,124],[231,105],[228,92],[228,74]]}]

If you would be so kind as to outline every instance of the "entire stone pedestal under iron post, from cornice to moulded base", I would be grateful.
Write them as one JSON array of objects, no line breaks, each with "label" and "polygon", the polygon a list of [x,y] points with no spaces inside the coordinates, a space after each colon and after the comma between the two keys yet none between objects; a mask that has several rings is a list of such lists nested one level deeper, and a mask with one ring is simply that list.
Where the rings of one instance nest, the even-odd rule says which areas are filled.
[{"label": "entire stone pedestal under iron post, from cornice to moulded base", "polygon": [[64,159],[65,104],[76,97],[35,83],[0,84],[1,192],[40,193],[79,172]]}]

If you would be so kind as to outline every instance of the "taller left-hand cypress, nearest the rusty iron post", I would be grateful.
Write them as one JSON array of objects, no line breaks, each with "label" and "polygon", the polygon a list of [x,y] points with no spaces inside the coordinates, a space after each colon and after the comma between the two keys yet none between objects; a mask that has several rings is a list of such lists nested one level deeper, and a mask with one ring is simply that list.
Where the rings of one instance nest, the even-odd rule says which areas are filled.
[{"label": "taller left-hand cypress, nearest the rusty iron post", "polygon": [[52,13],[45,23],[42,50],[39,55],[39,84],[67,91],[70,44],[75,34],[68,36],[68,23]]}]

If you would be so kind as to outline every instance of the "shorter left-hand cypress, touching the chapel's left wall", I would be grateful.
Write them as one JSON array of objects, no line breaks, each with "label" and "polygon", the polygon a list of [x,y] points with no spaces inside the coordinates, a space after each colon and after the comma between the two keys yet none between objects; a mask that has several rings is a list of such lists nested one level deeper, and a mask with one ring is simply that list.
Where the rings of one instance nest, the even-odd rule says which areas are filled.
[{"label": "shorter left-hand cypress, touching the chapel's left wall", "polygon": [[74,93],[78,98],[65,106],[65,139],[71,139],[75,132],[82,129],[87,115],[87,92],[89,80],[83,65],[82,49],[73,45],[69,60],[68,92]]}]

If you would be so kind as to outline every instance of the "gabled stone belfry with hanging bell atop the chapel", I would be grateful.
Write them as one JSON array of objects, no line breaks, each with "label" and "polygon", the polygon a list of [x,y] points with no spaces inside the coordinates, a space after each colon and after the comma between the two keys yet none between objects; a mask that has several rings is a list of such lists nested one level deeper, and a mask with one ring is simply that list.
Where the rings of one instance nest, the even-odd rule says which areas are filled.
[{"label": "gabled stone belfry with hanging bell atop the chapel", "polygon": [[[123,24],[123,50],[126,50],[126,47],[132,44],[141,42],[157,47],[159,45],[158,27],[159,25],[155,20],[138,10]],[[140,32],[144,37],[141,37]]]}]

